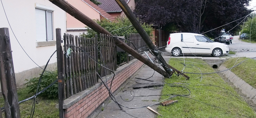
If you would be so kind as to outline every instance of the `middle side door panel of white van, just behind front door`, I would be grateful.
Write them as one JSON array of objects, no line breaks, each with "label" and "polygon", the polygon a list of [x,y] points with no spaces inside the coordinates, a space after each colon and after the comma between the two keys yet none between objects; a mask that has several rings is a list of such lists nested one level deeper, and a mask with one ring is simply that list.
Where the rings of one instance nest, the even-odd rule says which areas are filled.
[{"label": "middle side door panel of white van, just behind front door", "polygon": [[194,36],[189,34],[181,34],[181,48],[184,54],[196,53],[196,43]]}]

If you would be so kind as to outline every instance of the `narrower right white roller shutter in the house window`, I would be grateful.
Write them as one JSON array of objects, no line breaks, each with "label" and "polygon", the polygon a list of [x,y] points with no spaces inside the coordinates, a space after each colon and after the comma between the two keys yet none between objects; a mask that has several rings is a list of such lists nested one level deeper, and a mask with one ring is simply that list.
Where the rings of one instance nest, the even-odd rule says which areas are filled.
[{"label": "narrower right white roller shutter in the house window", "polygon": [[47,39],[48,41],[53,40],[52,35],[52,12],[46,11],[46,28],[47,28]]}]

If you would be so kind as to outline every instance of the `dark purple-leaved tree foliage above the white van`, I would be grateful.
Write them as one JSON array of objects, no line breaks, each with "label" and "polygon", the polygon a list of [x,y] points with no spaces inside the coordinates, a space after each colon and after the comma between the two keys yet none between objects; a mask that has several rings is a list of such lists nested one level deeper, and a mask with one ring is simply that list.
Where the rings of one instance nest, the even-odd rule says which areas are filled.
[{"label": "dark purple-leaved tree foliage above the white van", "polygon": [[[204,33],[248,15],[250,0],[136,0],[135,15],[142,22],[182,32]],[[242,20],[242,19],[241,19]],[[214,36],[221,28],[232,29],[241,20],[206,33]],[[233,30],[239,29],[239,26]]]}]

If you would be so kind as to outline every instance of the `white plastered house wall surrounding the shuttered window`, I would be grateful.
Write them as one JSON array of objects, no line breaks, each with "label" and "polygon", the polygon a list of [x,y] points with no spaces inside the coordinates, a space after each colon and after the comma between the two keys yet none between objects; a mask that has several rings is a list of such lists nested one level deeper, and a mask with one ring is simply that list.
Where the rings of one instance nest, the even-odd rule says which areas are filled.
[{"label": "white plastered house wall surrounding the shuttered window", "polygon": [[[56,45],[37,47],[35,7],[41,6],[54,10],[54,41],[56,41],[56,28],[61,28],[62,36],[66,32],[66,12],[61,10],[59,7],[52,4],[48,0],[2,0],[2,2],[9,23],[12,27],[13,33],[20,42],[20,45],[22,46],[22,48],[24,48],[24,50],[31,57],[31,59],[33,59],[39,66],[44,66],[52,53],[56,50]],[[14,71],[15,75],[19,75],[19,77],[16,76],[16,82],[17,80],[20,81],[21,83],[17,82],[17,85],[21,85],[24,84],[24,77],[22,77],[22,75],[24,75],[25,73],[29,73],[32,76],[38,76],[38,73],[34,73],[33,69],[36,69],[37,72],[42,72],[42,70],[38,69],[38,66],[29,59],[29,57],[20,47],[18,41],[15,39],[14,34],[12,33],[12,30],[5,17],[4,9],[0,4],[0,27],[9,28]],[[49,64],[53,64],[56,62],[57,59],[55,54],[53,55]]]}]

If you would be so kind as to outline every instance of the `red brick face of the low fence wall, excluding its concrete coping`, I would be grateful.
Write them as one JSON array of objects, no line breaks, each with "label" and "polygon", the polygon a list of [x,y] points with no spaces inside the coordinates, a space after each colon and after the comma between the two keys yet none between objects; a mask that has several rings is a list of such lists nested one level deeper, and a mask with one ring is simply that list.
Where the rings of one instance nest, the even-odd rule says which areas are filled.
[{"label": "red brick face of the low fence wall, excluding its concrete coping", "polygon": [[[130,64],[126,65],[126,67],[121,70],[115,71],[116,75],[112,83],[112,92],[115,92],[143,65],[139,60],[134,60],[135,61],[131,61]],[[108,86],[110,85],[111,79],[108,80]],[[102,83],[100,84],[98,88],[86,95],[83,99],[71,105],[69,108],[64,109],[65,118],[86,118],[92,114],[92,112],[109,97],[107,88]]]}]

